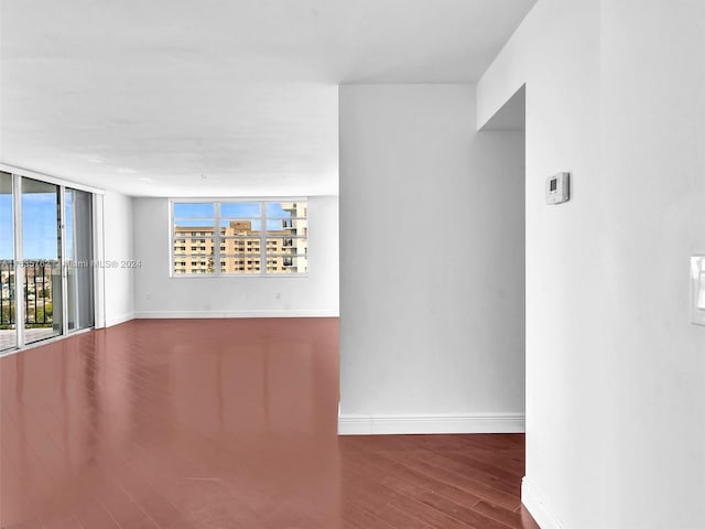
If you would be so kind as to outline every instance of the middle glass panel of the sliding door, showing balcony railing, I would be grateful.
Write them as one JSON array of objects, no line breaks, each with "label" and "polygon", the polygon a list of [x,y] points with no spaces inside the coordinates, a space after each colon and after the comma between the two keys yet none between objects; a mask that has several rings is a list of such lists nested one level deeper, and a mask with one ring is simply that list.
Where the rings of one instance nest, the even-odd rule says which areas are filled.
[{"label": "middle glass panel of the sliding door, showing balcony railing", "polygon": [[59,191],[58,185],[22,179],[25,344],[63,334]]}]

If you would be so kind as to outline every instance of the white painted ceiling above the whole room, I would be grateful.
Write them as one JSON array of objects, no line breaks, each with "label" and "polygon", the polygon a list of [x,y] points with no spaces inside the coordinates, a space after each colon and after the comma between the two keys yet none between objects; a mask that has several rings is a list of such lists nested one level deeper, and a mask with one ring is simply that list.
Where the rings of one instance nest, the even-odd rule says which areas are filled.
[{"label": "white painted ceiling above the whole room", "polygon": [[0,162],[140,196],[336,194],[341,83],[473,83],[536,0],[1,0]]}]

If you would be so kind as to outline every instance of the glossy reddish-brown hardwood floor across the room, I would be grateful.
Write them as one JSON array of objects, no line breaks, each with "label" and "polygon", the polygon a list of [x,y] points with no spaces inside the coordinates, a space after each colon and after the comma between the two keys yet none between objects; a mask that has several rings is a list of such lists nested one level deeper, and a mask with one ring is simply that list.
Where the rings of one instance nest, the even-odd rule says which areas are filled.
[{"label": "glossy reddish-brown hardwood floor across the room", "polygon": [[538,527],[522,435],[336,435],[337,320],[132,321],[0,384],[2,529]]}]

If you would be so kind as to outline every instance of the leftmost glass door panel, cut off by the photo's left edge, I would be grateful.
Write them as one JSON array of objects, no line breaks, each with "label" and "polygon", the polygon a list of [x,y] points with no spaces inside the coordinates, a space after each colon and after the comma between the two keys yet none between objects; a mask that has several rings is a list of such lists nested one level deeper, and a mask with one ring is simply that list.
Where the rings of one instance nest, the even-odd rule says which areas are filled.
[{"label": "leftmost glass door panel, cut off by the photo's left edge", "polygon": [[12,175],[0,172],[0,350],[18,345]]}]

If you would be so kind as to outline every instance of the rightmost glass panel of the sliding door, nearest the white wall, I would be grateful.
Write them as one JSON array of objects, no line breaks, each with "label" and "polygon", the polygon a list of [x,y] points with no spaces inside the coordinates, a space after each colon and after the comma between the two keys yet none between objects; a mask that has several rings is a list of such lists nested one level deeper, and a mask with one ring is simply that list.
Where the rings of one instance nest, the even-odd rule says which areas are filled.
[{"label": "rightmost glass panel of the sliding door, nearest the white wall", "polygon": [[66,188],[66,287],[68,331],[94,326],[93,195]]}]

